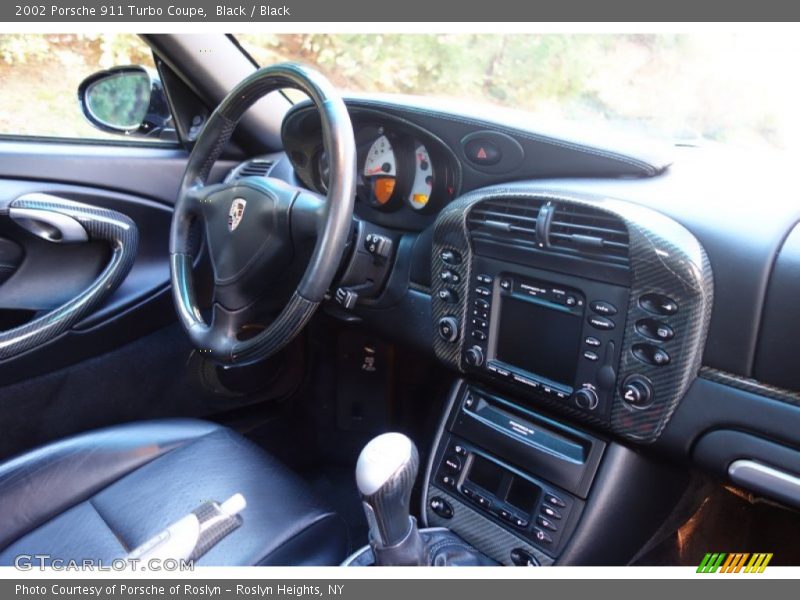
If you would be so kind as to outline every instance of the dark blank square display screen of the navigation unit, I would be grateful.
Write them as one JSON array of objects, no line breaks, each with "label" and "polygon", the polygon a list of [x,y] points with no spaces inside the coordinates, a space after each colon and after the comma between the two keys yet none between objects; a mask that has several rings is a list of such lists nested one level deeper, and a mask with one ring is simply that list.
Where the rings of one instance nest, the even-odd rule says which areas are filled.
[{"label": "dark blank square display screen of the navigation unit", "polygon": [[572,386],[581,317],[514,296],[503,298],[495,357],[556,383]]}]

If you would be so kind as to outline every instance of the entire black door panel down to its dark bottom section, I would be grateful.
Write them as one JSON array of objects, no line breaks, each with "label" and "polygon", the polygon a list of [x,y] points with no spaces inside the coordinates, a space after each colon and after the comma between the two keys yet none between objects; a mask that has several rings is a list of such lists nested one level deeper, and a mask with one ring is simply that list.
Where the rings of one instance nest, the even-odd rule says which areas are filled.
[{"label": "entire black door panel down to its dark bottom section", "polygon": [[[9,202],[53,194],[120,212],[139,230],[128,276],[98,309],[60,337],[0,361],[0,460],[93,427],[208,417],[286,398],[302,381],[302,340],[269,364],[225,374],[178,326],[169,226],[185,159],[164,148],[0,141],[0,331],[79,292],[110,252],[102,242],[41,240],[12,222],[3,210]],[[231,166],[220,161],[215,180]]]}]

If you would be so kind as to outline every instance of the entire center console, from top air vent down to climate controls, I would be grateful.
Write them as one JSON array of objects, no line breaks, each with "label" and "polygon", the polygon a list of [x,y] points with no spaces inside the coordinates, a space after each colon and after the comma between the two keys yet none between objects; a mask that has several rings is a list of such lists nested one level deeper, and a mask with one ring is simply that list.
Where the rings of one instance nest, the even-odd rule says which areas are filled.
[{"label": "entire center console, from top air vent down to climate controls", "polygon": [[433,253],[434,349],[462,378],[427,524],[504,564],[630,559],[685,475],[616,440],[657,440],[697,375],[702,247],[641,206],[511,184],[448,205]]}]

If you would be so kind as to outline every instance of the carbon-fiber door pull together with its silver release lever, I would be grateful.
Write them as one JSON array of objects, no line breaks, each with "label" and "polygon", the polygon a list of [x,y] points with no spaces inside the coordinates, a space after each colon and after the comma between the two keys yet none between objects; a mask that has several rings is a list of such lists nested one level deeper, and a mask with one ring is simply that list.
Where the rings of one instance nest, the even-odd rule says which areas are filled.
[{"label": "carbon-fiber door pull together with its silver release lever", "polygon": [[41,346],[88,316],[128,275],[139,246],[139,231],[126,215],[51,194],[24,194],[9,204],[8,215],[50,242],[101,240],[111,246],[112,252],[103,271],[75,298],[32,321],[0,332],[0,360]]}]

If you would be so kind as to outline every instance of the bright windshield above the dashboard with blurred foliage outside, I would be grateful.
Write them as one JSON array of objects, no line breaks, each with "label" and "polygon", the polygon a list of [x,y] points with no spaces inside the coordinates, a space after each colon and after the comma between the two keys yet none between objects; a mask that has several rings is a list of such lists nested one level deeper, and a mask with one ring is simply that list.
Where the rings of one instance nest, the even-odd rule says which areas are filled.
[{"label": "bright windshield above the dashboard with blurred foliage outside", "polygon": [[800,150],[800,40],[747,34],[243,34],[340,89],[456,98],[675,143]]}]

